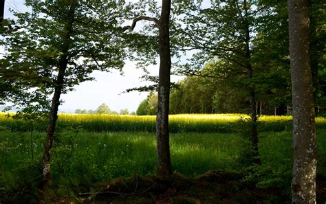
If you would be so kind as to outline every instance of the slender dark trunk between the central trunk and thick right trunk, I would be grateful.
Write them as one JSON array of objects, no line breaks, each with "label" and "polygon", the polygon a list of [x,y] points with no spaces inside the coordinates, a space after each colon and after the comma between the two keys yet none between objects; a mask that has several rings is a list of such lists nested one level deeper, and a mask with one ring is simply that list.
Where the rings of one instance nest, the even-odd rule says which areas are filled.
[{"label": "slender dark trunk between the central trunk and thick right trunk", "polygon": [[[248,8],[246,4],[246,0],[244,1],[244,23],[245,23],[245,46],[246,46],[246,60],[247,60],[247,77],[249,79],[253,78],[253,70],[252,65],[250,63],[250,25],[248,22]],[[258,150],[258,131],[257,131],[257,110],[256,110],[256,93],[254,91],[254,85],[249,86],[249,97],[250,97],[250,120],[251,120],[251,144],[252,144],[252,161],[254,163],[260,164],[261,160],[259,159],[259,150]]]}]

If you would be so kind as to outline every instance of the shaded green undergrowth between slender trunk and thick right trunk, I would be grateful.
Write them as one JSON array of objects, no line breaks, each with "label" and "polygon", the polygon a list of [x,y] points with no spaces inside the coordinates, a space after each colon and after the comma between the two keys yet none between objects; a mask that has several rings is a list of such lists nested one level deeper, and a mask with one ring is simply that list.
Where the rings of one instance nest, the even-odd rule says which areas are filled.
[{"label": "shaded green undergrowth between slender trunk and thick right trunk", "polygon": [[[319,142],[323,143],[323,131],[318,132]],[[290,183],[292,180],[292,134],[290,132],[261,133],[260,157],[262,164],[244,168],[247,172],[243,182],[254,182],[258,188],[284,188],[284,194],[290,196]],[[320,149],[319,149],[320,150]],[[323,154],[323,150],[319,152]],[[285,156],[287,155],[287,156]],[[280,165],[281,164],[281,165]],[[318,164],[318,172],[324,174],[323,164]]]}]

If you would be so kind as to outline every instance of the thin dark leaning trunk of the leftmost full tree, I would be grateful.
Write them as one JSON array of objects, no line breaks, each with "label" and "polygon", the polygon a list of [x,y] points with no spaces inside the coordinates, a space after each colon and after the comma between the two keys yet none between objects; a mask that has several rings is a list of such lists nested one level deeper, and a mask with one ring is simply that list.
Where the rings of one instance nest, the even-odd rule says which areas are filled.
[{"label": "thin dark leaning trunk of the leftmost full tree", "polygon": [[44,144],[44,155],[42,158],[42,173],[41,173],[41,188],[40,192],[42,193],[45,188],[51,185],[50,179],[50,159],[51,159],[51,150],[52,144],[54,141],[54,132],[56,129],[56,120],[58,119],[58,106],[60,105],[60,96],[63,91],[65,83],[65,70],[68,63],[68,51],[69,44],[71,43],[70,36],[72,34],[72,24],[74,22],[74,9],[75,5],[72,3],[70,6],[67,23],[65,25],[65,34],[62,38],[62,55],[58,62],[58,76],[54,84],[54,95],[52,98],[52,106],[49,115],[49,123],[47,124],[47,136],[45,138]]}]

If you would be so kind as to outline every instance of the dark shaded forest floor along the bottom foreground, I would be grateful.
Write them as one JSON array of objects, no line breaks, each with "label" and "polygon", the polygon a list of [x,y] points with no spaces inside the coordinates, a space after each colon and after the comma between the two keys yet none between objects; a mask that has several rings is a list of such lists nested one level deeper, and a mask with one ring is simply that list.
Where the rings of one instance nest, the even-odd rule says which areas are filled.
[{"label": "dark shaded forest floor along the bottom foreground", "polygon": [[[154,175],[117,178],[96,183],[93,192],[75,198],[52,198],[49,203],[290,203],[288,190],[259,189],[255,183],[241,182],[241,174],[206,172],[199,177],[175,173],[162,178]],[[101,187],[100,187],[101,186]],[[100,188],[99,188],[100,187]],[[317,178],[317,203],[326,202],[326,177]]]}]

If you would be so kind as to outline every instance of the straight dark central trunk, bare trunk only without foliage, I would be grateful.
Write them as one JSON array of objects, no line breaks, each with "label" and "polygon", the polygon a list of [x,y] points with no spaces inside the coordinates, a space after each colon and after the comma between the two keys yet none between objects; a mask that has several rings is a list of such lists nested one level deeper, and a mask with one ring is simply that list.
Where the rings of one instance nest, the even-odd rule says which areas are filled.
[{"label": "straight dark central trunk, bare trunk only without foliage", "polygon": [[157,175],[162,177],[168,177],[172,174],[169,144],[169,97],[171,72],[169,36],[170,11],[171,0],[163,0],[159,27],[160,72],[156,117]]}]

